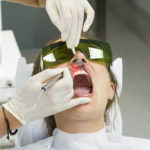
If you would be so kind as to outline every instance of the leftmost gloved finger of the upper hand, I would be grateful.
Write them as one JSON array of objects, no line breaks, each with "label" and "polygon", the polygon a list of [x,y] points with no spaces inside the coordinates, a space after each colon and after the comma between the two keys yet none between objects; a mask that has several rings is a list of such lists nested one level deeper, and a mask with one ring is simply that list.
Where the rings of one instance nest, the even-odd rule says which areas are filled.
[{"label": "leftmost gloved finger of the upper hand", "polygon": [[62,8],[62,20],[64,21],[64,26],[61,32],[61,39],[63,41],[66,41],[70,34],[72,23],[72,15],[70,8],[68,7]]}]

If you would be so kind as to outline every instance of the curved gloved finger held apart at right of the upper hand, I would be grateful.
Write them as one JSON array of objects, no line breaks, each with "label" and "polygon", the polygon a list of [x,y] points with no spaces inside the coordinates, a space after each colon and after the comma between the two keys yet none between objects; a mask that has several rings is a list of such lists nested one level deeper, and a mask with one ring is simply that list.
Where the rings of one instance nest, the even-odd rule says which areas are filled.
[{"label": "curved gloved finger held apart at right of the upper hand", "polygon": [[95,13],[88,1],[85,1],[84,6],[85,6],[85,12],[87,14],[87,18],[86,18],[84,26],[83,26],[83,32],[87,32],[94,20]]}]

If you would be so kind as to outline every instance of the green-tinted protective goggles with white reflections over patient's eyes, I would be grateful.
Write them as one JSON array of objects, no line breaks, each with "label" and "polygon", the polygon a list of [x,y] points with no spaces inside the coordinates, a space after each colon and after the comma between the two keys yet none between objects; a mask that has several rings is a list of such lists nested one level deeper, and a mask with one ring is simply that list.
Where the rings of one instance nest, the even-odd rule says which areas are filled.
[{"label": "green-tinted protective goggles with white reflections over patient's eyes", "polygon": [[[80,39],[76,51],[84,54],[87,60],[96,63],[105,63],[110,67],[112,65],[111,47],[106,42]],[[41,69],[54,68],[59,64],[70,61],[74,57],[71,49],[68,49],[66,42],[50,44],[42,49]]]}]

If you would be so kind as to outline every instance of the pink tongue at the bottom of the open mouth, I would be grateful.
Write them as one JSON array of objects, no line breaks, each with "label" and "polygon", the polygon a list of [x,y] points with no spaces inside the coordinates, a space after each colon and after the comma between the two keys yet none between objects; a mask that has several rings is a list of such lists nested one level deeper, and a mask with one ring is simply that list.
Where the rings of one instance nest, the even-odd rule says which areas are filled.
[{"label": "pink tongue at the bottom of the open mouth", "polygon": [[74,96],[75,97],[85,97],[89,96],[90,89],[88,87],[76,87],[74,88]]}]

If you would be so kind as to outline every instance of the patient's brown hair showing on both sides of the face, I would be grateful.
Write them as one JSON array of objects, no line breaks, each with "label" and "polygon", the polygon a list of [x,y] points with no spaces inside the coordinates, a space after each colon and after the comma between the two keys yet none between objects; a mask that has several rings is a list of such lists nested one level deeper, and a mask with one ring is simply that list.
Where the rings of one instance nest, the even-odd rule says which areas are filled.
[{"label": "patient's brown hair showing on both sides of the face", "polygon": [[[56,40],[58,40],[58,38],[48,42],[47,45],[52,44]],[[32,75],[35,75],[35,74],[41,72],[40,60],[41,60],[41,53],[37,56],[37,58],[36,58],[36,60],[34,62],[34,68],[33,68]],[[114,102],[114,100],[116,98],[119,100],[118,94],[117,94],[117,91],[116,91],[117,86],[118,86],[117,80],[116,80],[113,72],[110,69],[108,69],[108,73],[109,73],[110,81],[114,84],[115,94],[114,94],[113,100],[108,100],[108,103],[107,103],[107,106],[106,106],[106,110],[111,107],[112,103]],[[104,119],[105,119],[105,117],[104,117]],[[48,131],[49,131],[49,135],[52,136],[53,131],[56,128],[56,122],[55,122],[54,115],[46,117],[45,118],[45,122],[46,122],[46,125],[47,125],[47,128],[48,128]]]}]

